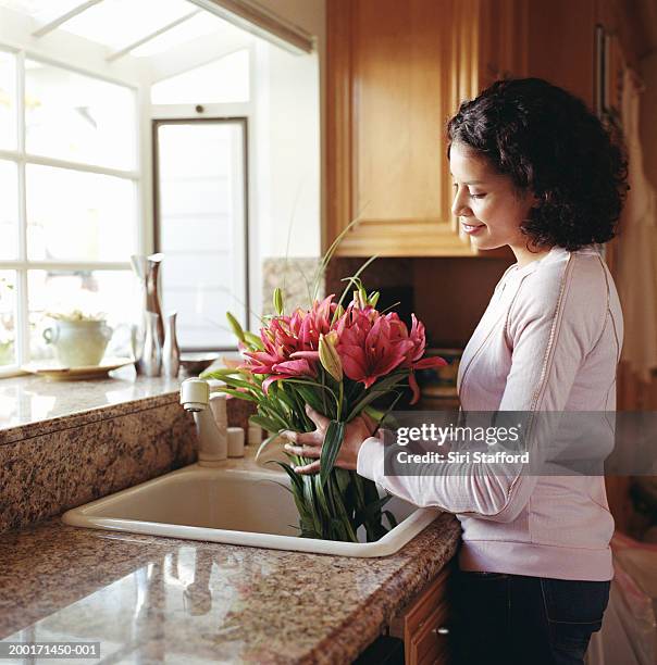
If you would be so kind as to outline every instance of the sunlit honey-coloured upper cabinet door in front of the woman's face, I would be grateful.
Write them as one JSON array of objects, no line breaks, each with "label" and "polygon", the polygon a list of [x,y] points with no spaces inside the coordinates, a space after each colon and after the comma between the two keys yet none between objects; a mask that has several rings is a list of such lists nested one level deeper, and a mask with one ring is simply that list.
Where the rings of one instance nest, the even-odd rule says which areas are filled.
[{"label": "sunlit honey-coloured upper cabinet door in front of the woman's face", "polygon": [[478,0],[327,3],[325,246],[340,255],[474,251],[451,215],[445,125],[479,85]]}]

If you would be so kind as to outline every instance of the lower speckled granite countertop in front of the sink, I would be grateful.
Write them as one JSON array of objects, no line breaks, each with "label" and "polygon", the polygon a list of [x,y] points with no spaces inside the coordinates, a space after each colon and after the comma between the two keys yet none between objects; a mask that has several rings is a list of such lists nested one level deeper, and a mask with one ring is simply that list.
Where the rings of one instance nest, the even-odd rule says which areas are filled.
[{"label": "lower speckled granite countertop in front of the sink", "polygon": [[349,663],[454,556],[459,535],[442,514],[397,554],[350,559],[53,518],[0,536],[0,638],[99,641],[110,663]]}]

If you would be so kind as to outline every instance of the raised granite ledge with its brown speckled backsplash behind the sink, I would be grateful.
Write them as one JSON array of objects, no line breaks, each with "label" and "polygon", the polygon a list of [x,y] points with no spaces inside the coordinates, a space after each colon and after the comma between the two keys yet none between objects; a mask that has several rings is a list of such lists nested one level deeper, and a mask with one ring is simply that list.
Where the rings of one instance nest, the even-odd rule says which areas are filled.
[{"label": "raised granite ledge with its brown speckled backsplash behind the sink", "polygon": [[[190,464],[196,431],[179,380],[135,376],[0,380],[0,532]],[[228,425],[249,402],[230,399]]]}]

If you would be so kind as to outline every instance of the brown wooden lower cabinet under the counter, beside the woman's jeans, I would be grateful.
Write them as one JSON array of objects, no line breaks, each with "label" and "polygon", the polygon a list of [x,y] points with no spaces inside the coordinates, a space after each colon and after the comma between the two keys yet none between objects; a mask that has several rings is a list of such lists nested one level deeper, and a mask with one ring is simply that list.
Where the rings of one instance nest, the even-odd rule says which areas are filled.
[{"label": "brown wooden lower cabinet under the counter, beside the woman's jeans", "polygon": [[449,663],[447,579],[451,565],[423,589],[395,618],[391,635],[404,640],[406,665]]}]

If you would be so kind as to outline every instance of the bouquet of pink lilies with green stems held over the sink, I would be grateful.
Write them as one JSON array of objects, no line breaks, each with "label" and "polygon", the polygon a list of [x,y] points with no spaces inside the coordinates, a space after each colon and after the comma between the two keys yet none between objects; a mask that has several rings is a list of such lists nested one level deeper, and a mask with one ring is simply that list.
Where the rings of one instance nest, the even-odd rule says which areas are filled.
[{"label": "bouquet of pink lilies with green stems held over the sink", "polygon": [[[364,526],[371,542],[387,532],[384,517],[389,528],[396,520],[384,510],[389,495],[380,497],[375,484],[356,472],[334,467],[345,426],[363,412],[381,424],[408,388],[414,403],[419,389],[413,372],[446,362],[423,357],[424,326],[414,314],[409,330],[395,312],[376,310],[379,293],[368,294],[358,274],[348,279],[356,290],[346,308],[350,286],[339,302],[331,294],[290,314],[284,313],[283,293],[276,289],[276,314],[263,317],[258,336],[243,330],[227,313],[245,362],[202,377],[220,379],[224,392],[257,404],[250,421],[271,435],[261,450],[283,430],[314,430],[305,404],[326,416],[319,474],[297,474],[294,466],[310,462],[299,455],[286,453],[292,464],[277,462],[292,481],[300,535],[358,542],[357,531]],[[392,398],[387,410],[373,409],[372,402],[386,396]]]}]

